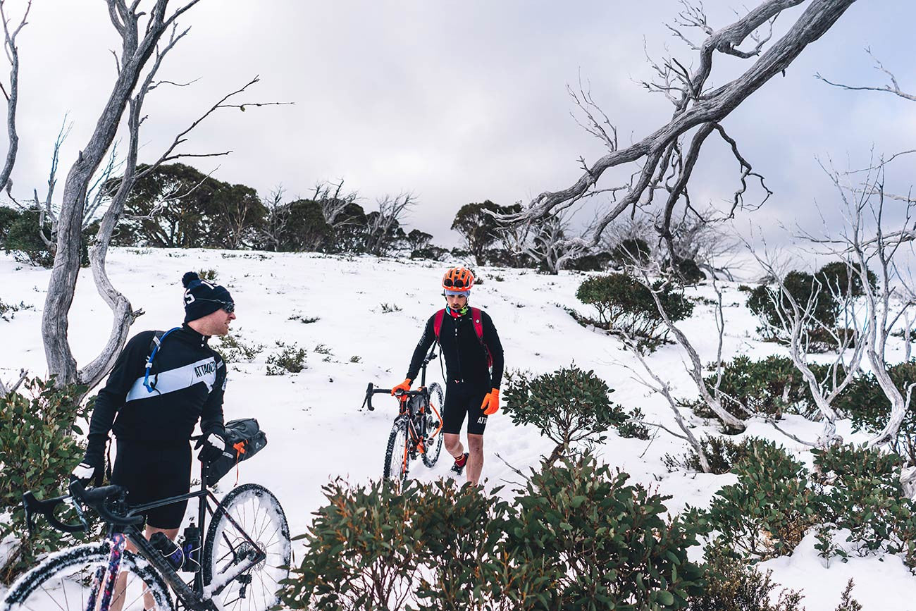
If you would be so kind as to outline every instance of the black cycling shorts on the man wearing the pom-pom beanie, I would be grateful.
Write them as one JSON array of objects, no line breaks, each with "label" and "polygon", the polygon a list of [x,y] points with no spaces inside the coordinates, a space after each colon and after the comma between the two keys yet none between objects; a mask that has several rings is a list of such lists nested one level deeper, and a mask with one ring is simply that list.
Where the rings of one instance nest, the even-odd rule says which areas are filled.
[{"label": "black cycling shorts on the man wearing the pom-pom beanie", "polygon": [[[191,490],[191,442],[167,445],[117,441],[112,484],[127,488],[127,504],[143,505]],[[147,509],[147,526],[177,529],[188,501]]]}]

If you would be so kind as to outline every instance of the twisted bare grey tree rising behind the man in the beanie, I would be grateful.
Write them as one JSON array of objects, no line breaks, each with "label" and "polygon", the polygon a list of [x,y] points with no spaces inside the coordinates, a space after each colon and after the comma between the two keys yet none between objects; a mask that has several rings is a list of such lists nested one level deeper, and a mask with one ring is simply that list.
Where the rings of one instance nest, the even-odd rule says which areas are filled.
[{"label": "twisted bare grey tree rising behind the man in the beanie", "polygon": [[[42,317],[42,337],[48,361],[49,375],[55,376],[59,385],[80,383],[93,387],[101,381],[113,366],[118,351],[124,346],[127,332],[142,311],[134,311],[125,296],[114,288],[105,271],[105,256],[114,233],[114,227],[124,212],[127,196],[136,180],[162,163],[177,158],[218,157],[220,153],[181,153],[176,149],[187,142],[188,134],[207,116],[222,108],[245,109],[248,105],[230,104],[229,99],[245,92],[257,78],[239,90],[229,93],[207,112],[175,137],[166,151],[154,164],[137,170],[137,149],[140,126],[146,120],[143,104],[147,93],[162,85],[180,85],[169,81],[158,81],[158,70],[169,51],[184,38],[190,28],[180,30],[176,20],[197,5],[200,0],[187,0],[169,11],[169,0],[155,0],[148,10],[142,9],[142,0],[130,5],[125,0],[107,0],[108,13],[118,36],[121,49],[114,53],[117,76],[112,92],[99,116],[92,136],[71,166],[64,183],[60,203],[59,231],[54,267],[51,270],[48,296]],[[185,83],[188,84],[188,83]],[[180,85],[181,86],[181,85]],[[277,104],[277,103],[268,103]],[[85,217],[87,194],[96,170],[110,149],[122,117],[127,112],[129,132],[128,149],[125,156],[125,172],[118,180],[116,191],[101,219],[98,234],[90,249],[90,263],[95,286],[114,313],[112,330],[103,351],[82,369],[77,369],[68,340],[69,311],[73,301],[76,279],[79,274],[82,221]]]}]

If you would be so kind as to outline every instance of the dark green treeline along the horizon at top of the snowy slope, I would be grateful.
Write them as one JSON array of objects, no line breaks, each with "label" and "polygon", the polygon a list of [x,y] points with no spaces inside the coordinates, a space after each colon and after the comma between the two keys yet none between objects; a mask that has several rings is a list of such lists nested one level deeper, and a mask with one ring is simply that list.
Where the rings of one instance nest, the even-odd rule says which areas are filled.
[{"label": "dark green treeline along the horizon at top of the snowy slope", "polygon": [[[104,191],[114,193],[118,184],[108,180]],[[410,193],[377,198],[375,210],[366,211],[362,201],[356,192],[344,191],[343,182],[319,184],[296,199],[282,190],[261,197],[251,187],[216,180],[184,164],[163,165],[136,181],[112,245],[458,258],[477,265],[543,267],[538,249],[531,248],[538,245],[537,230],[519,229],[496,216],[518,213],[518,203],[464,204],[452,224],[463,247],[448,249],[433,245],[431,234],[405,226],[415,204]],[[43,214],[40,205],[0,207],[0,247],[24,263],[49,267],[56,243],[56,227],[48,221],[52,216]],[[96,223],[86,224],[85,245],[96,230]],[[580,256],[565,267],[602,269],[609,258]]]}]

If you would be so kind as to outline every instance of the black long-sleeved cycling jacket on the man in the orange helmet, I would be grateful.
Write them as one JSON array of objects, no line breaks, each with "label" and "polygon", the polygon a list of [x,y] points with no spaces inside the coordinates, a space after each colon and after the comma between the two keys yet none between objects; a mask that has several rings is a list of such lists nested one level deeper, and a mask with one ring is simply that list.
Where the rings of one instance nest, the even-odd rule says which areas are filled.
[{"label": "black long-sleeved cycling jacket on the man in the orange helmet", "polygon": [[[499,342],[499,334],[493,320],[485,311],[480,311],[481,322],[484,325],[484,344],[493,355],[493,375],[486,366],[486,351],[474,331],[474,322],[471,320],[471,310],[460,318],[453,318],[449,312],[442,317],[442,329],[439,332],[439,344],[442,356],[445,358],[445,375],[448,380],[460,380],[476,386],[498,388],[503,380],[503,344]],[[413,351],[410,359],[410,368],[407,377],[417,379],[423,358],[430,352],[432,343],[436,341],[433,314],[426,322],[423,336]]]}]

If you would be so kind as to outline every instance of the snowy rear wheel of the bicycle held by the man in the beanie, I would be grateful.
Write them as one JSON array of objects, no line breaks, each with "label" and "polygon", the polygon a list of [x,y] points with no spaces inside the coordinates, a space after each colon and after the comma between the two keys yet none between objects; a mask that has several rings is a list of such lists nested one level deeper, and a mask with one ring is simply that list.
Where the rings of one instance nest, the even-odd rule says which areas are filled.
[{"label": "snowy rear wheel of the bicycle held by the man in the beanie", "polygon": [[[223,571],[239,561],[251,544],[227,518],[267,553],[267,558],[235,577],[213,603],[226,611],[267,611],[279,603],[280,581],[289,576],[291,544],[283,507],[266,487],[259,484],[236,486],[220,501],[213,513],[203,546],[203,584],[214,583]],[[214,553],[215,551],[215,553]],[[247,601],[246,603],[243,601]]]}]

